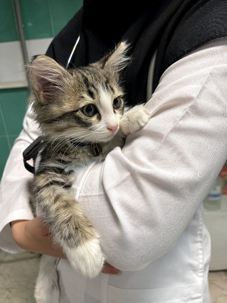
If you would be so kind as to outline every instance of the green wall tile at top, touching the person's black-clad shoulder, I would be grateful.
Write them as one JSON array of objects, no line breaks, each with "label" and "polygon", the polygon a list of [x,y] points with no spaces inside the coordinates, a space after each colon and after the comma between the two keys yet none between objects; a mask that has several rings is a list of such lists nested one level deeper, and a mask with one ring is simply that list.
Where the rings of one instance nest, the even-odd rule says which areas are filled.
[{"label": "green wall tile at top, touching the person's black-clad shoulder", "polygon": [[48,0],[48,2],[50,4],[54,36],[62,30],[83,5],[83,0]]}]

